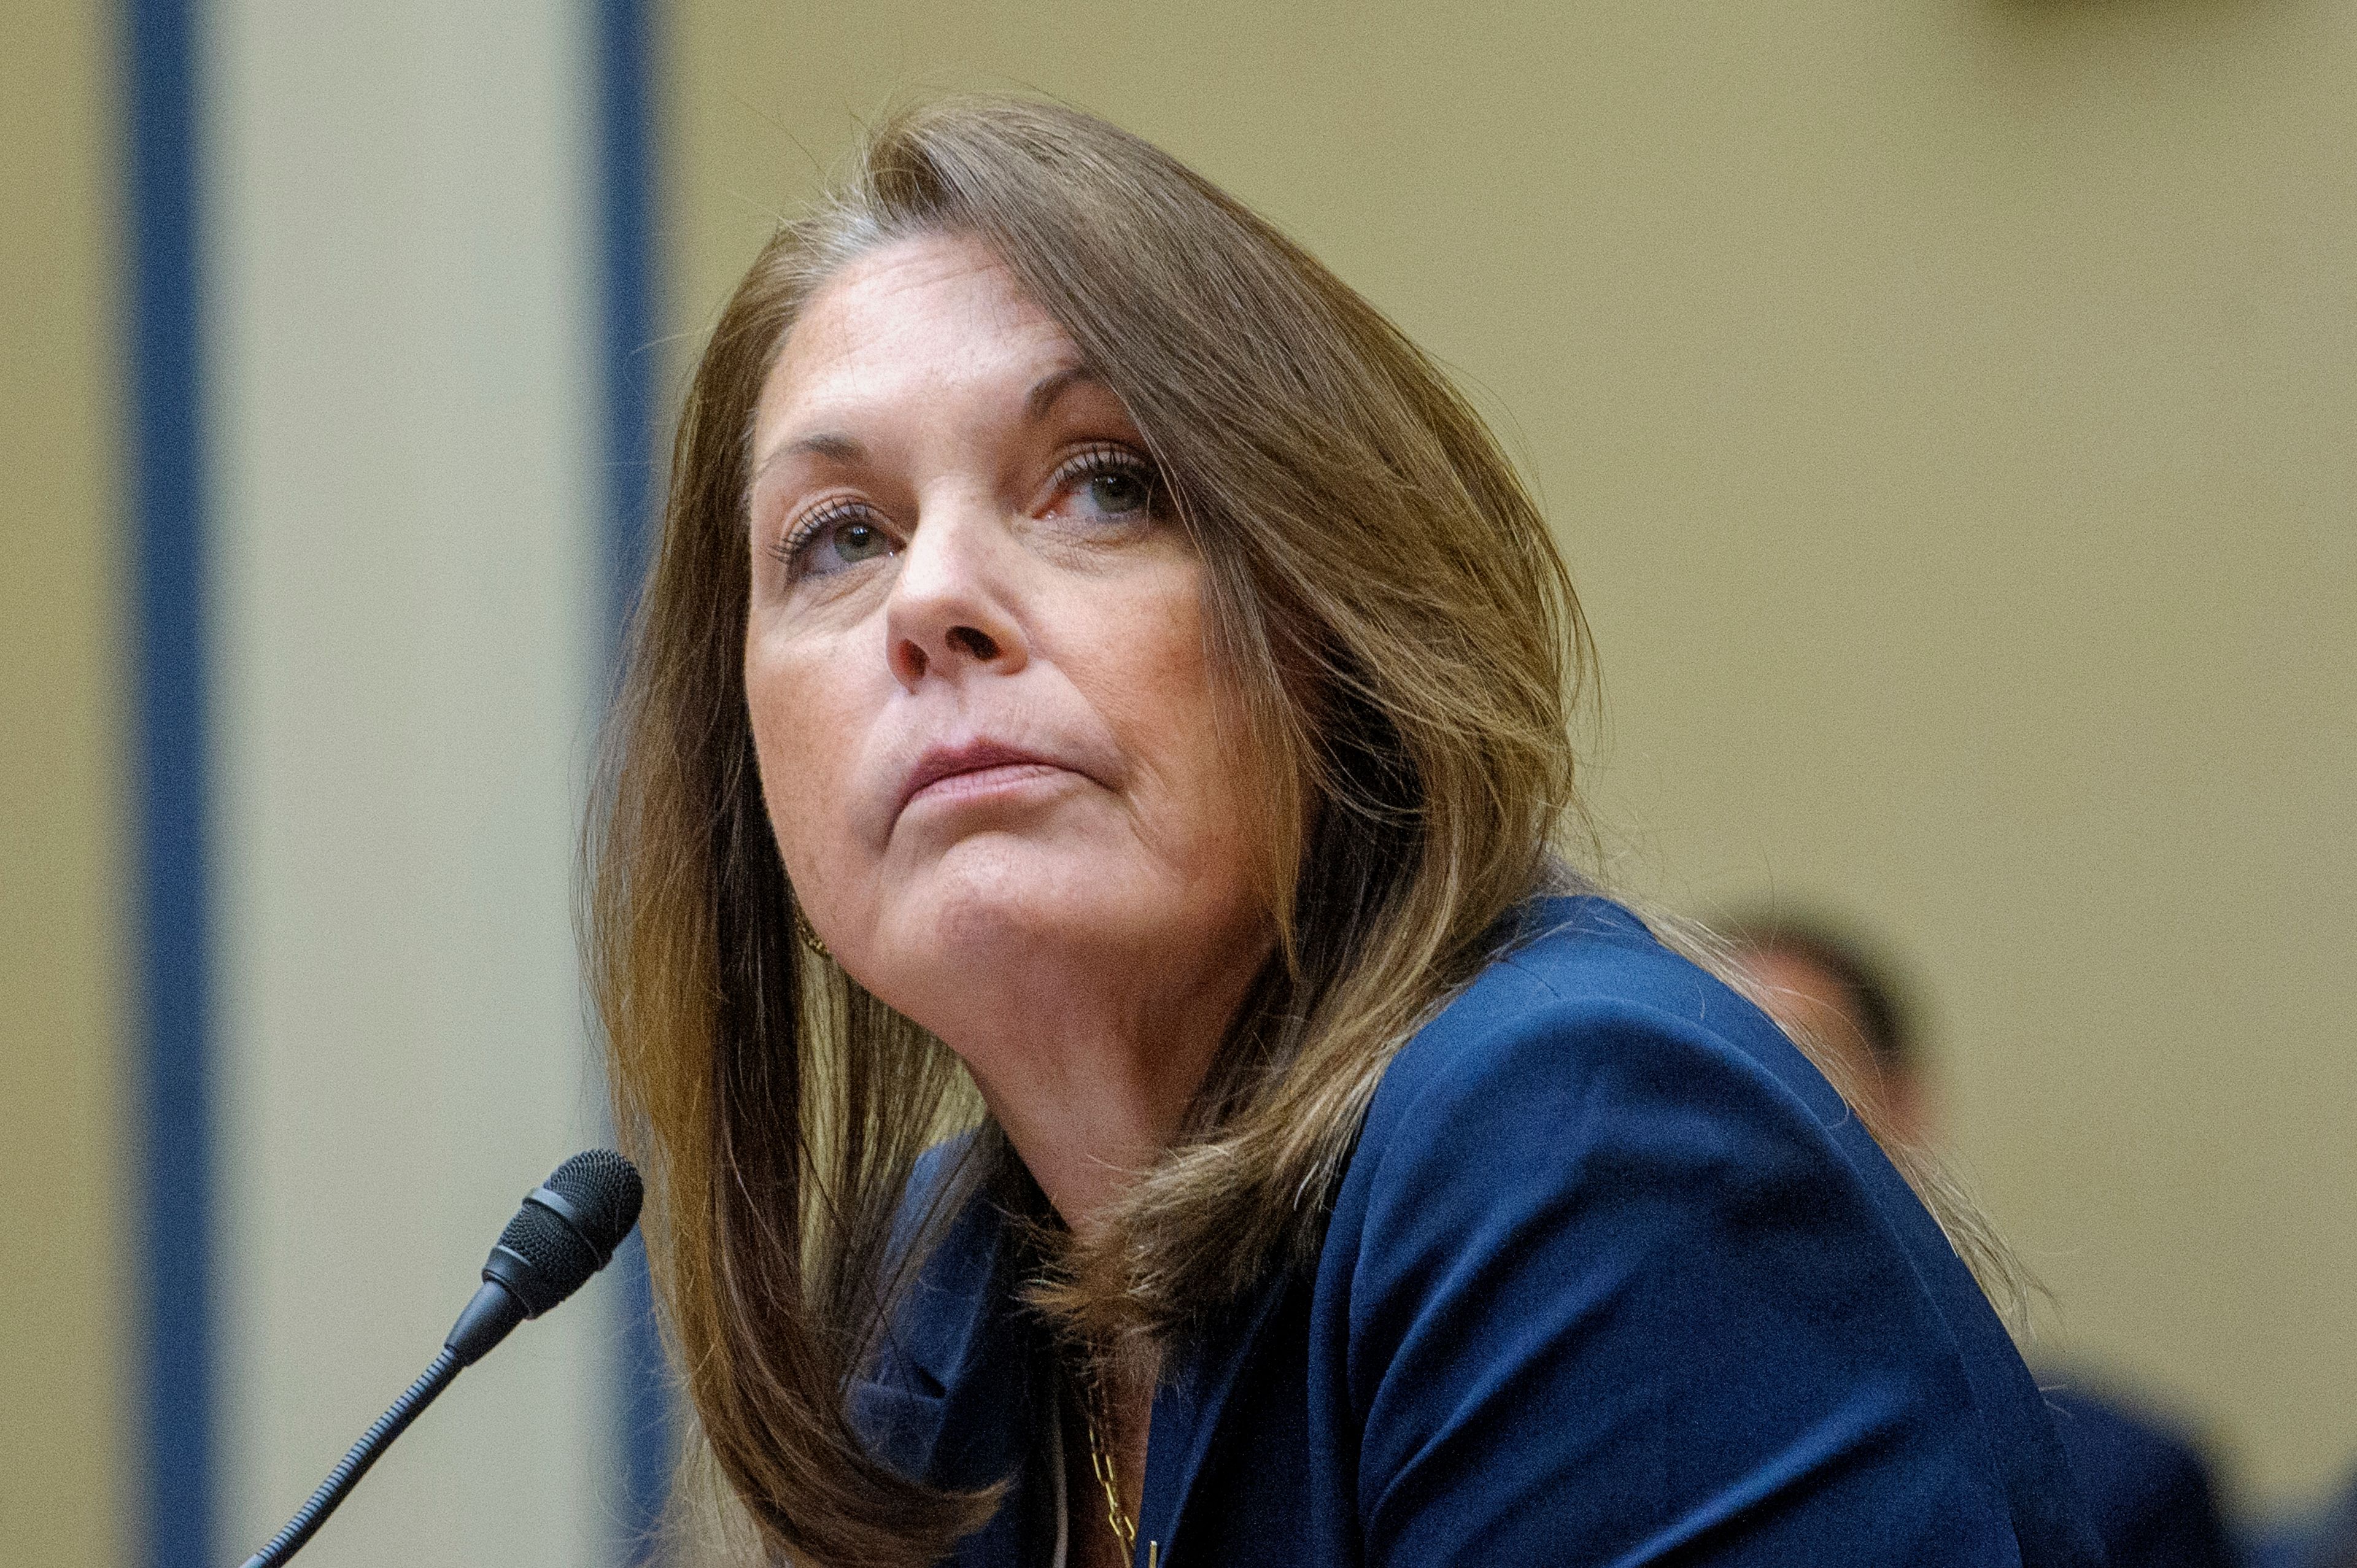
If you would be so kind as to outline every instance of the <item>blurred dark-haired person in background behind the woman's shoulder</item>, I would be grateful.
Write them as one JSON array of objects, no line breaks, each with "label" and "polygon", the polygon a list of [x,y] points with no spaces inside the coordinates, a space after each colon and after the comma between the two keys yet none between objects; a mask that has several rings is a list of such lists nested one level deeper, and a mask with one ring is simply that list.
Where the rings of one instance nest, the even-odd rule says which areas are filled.
[{"label": "blurred dark-haired person in background behind the woman's shoulder", "polygon": [[[1895,1139],[1940,1141],[1916,1000],[1871,941],[1850,924],[1794,915],[1747,917],[1718,931],[1735,943],[1768,1012],[1838,1059],[1853,1099],[1874,1103]],[[2086,1386],[2048,1384],[2046,1401],[2112,1568],[2234,1563],[2211,1467],[2187,1436]]]}]

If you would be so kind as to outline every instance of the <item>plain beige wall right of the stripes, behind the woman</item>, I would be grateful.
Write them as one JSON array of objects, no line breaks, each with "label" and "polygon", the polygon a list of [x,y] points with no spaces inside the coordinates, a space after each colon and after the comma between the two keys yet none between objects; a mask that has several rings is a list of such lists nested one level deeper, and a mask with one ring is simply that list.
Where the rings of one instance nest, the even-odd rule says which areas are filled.
[{"label": "plain beige wall right of the stripes, behind the woman", "polygon": [[2357,7],[674,14],[676,325],[853,116],[1037,87],[1497,413],[1622,875],[1881,922],[2060,1353],[2357,1462]]}]

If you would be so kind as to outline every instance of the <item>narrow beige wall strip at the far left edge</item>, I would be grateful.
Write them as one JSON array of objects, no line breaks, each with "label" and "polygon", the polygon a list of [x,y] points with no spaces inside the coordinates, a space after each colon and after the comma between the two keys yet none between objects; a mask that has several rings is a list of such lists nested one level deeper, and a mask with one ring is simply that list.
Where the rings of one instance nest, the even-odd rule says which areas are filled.
[{"label": "narrow beige wall strip at the far left edge", "polygon": [[115,1561],[120,1386],[111,9],[0,47],[0,1540]]}]

